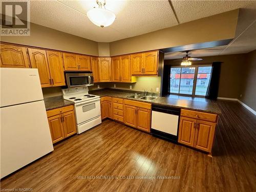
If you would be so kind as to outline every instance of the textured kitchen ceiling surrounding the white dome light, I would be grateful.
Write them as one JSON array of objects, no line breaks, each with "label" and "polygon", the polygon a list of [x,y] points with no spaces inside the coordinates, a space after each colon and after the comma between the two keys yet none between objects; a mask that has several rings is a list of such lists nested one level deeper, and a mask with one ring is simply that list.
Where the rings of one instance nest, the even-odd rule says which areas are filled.
[{"label": "textured kitchen ceiling surrounding the white dome light", "polygon": [[113,11],[117,18],[113,25],[101,29],[92,24],[86,16],[88,10],[97,7],[96,0],[31,1],[31,22],[98,42],[111,42],[237,8],[255,7],[255,1],[171,3],[174,10],[167,0],[106,0],[106,9]]}]

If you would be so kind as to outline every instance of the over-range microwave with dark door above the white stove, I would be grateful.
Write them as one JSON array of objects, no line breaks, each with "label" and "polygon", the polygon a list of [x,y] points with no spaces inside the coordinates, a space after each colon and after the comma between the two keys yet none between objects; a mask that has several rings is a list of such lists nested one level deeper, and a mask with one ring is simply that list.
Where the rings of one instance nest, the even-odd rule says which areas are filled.
[{"label": "over-range microwave with dark door above the white stove", "polygon": [[66,83],[68,88],[93,86],[93,74],[81,72],[66,72]]}]

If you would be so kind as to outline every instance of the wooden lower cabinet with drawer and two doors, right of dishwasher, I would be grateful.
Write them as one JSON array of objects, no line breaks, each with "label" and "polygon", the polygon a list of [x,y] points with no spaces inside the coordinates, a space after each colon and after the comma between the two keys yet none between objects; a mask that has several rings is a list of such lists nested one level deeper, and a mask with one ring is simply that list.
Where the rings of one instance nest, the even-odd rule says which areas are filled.
[{"label": "wooden lower cabinet with drawer and two doors, right of dishwasher", "polygon": [[[187,112],[188,110],[181,110],[181,115],[188,114],[189,116],[191,116],[191,114],[195,114],[194,116],[196,118],[184,116],[180,117],[178,142],[187,146],[197,148],[198,150],[211,153],[218,115],[207,115],[207,113],[205,113],[204,119],[202,119],[201,112],[198,112],[198,115],[195,111],[190,111],[189,113]],[[215,118],[209,118],[212,116],[214,116]],[[209,122],[208,120],[215,122]]]}]

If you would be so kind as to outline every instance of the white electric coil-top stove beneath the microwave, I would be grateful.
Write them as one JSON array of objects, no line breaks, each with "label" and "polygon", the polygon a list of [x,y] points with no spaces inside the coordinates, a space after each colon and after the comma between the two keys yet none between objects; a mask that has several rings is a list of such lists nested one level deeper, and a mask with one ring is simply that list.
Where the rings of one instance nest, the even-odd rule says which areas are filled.
[{"label": "white electric coil-top stove beneath the microwave", "polygon": [[78,134],[101,123],[100,98],[88,94],[88,87],[62,89],[62,94],[64,99],[75,103]]}]

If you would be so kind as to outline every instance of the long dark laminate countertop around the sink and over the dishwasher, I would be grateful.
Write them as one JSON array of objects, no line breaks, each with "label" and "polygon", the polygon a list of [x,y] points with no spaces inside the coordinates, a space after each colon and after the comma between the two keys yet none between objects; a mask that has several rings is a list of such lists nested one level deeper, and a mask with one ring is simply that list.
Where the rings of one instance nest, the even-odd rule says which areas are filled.
[{"label": "long dark laminate countertop around the sink and over the dishwasher", "polygon": [[217,102],[215,102],[214,100],[196,101],[196,100],[187,100],[187,99],[180,99],[180,98],[158,97],[153,101],[146,101],[141,99],[126,98],[127,96],[133,95],[134,93],[127,93],[124,91],[96,90],[96,91],[90,91],[89,93],[98,95],[100,97],[111,96],[111,97],[117,97],[122,99],[148,102],[148,103],[162,105],[162,106],[172,106],[175,108],[190,109],[190,110],[202,111],[207,113],[221,114],[221,110]]}]

